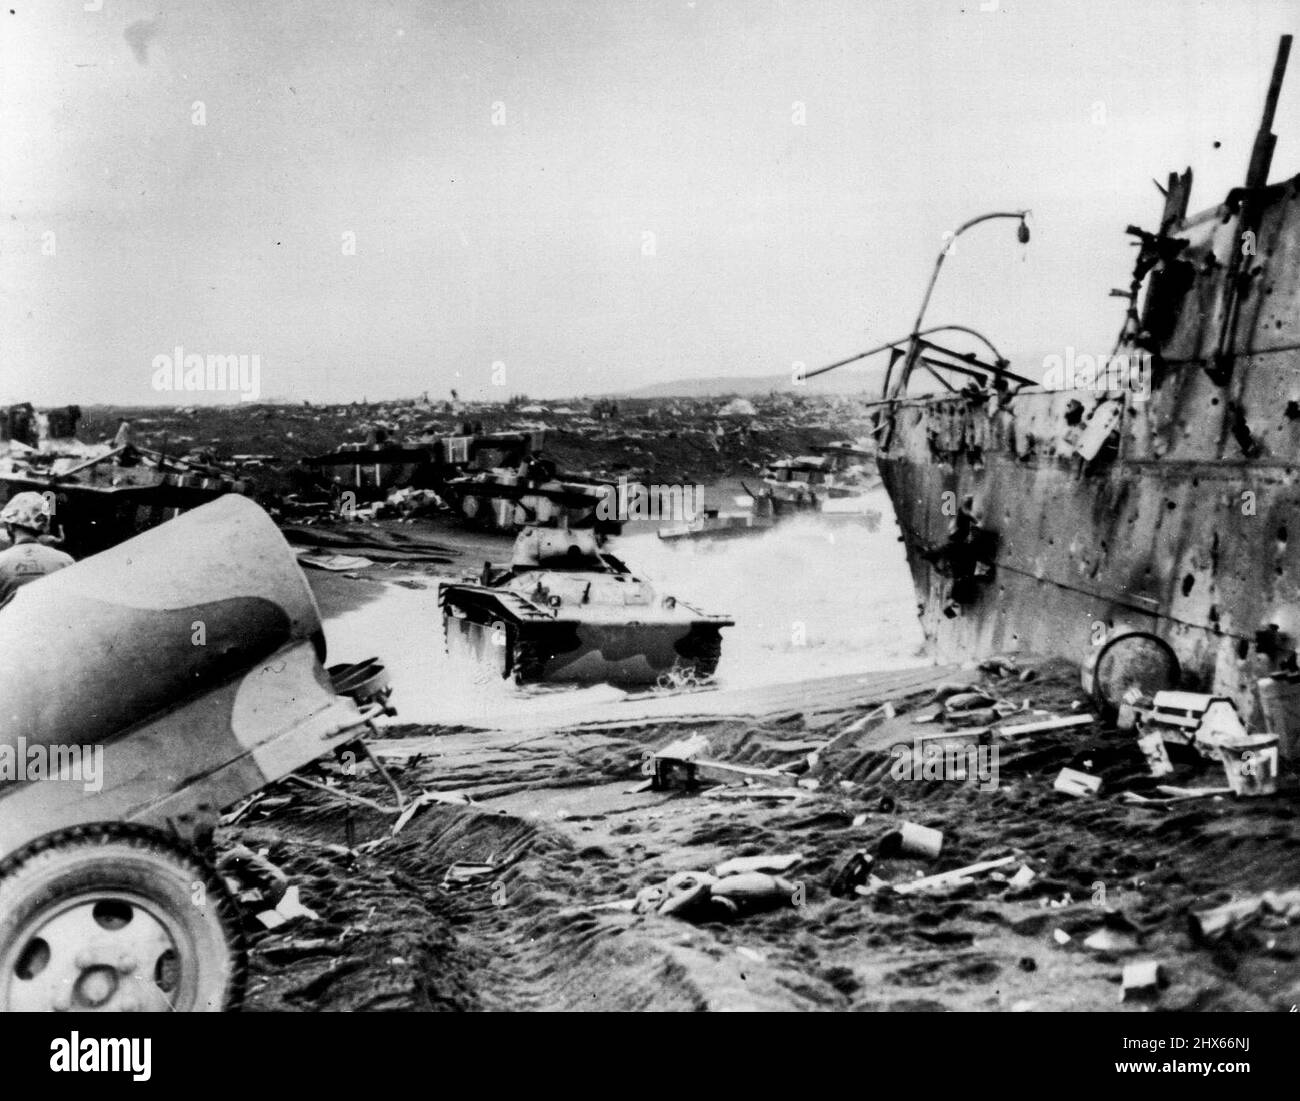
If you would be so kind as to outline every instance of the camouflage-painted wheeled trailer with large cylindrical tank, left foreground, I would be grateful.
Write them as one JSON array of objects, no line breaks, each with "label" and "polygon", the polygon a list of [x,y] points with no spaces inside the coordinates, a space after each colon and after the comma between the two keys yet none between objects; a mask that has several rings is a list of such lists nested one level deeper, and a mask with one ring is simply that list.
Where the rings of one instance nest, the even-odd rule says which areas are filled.
[{"label": "camouflage-painted wheeled trailer with large cylindrical tank, left foreground", "polygon": [[292,552],[233,494],[20,589],[0,655],[0,1009],[237,1007],[218,815],[372,729],[382,667],[326,672]]}]

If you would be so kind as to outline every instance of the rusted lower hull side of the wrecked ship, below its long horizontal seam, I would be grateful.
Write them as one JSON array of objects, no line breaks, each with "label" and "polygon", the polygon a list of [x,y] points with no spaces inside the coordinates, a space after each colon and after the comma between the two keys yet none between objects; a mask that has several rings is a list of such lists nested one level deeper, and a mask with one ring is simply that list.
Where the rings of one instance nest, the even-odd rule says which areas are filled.
[{"label": "rusted lower hull side of the wrecked ship, below its long horizontal seam", "polygon": [[[935,656],[1019,650],[1083,660],[1105,633],[1131,627],[1165,638],[1193,682],[1253,707],[1254,681],[1278,666],[1258,645],[1273,649],[1269,624],[1283,647],[1300,632],[1300,563],[1288,552],[1292,529],[1300,537],[1300,468],[1117,458],[1084,472],[1078,456],[1017,454],[1015,419],[1037,407],[1036,420],[1050,421],[1080,398],[1096,395],[1020,394],[1014,417],[926,403],[911,411],[916,432],[880,459]],[[930,451],[935,421],[954,415],[987,432],[979,467],[965,448],[948,461],[910,454],[918,443]],[[954,607],[952,578],[927,555],[967,497],[998,549],[974,602]]]}]

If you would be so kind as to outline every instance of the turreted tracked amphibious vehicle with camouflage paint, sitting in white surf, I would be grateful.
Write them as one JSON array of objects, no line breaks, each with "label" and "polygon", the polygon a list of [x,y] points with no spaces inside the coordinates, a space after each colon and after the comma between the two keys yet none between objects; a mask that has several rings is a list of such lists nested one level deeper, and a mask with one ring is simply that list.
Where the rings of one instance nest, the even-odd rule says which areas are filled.
[{"label": "turreted tracked amphibious vehicle with camouflage paint, sitting in white surf", "polygon": [[528,528],[508,569],[438,589],[447,654],[516,684],[711,677],[725,616],[664,595],[589,530]]}]

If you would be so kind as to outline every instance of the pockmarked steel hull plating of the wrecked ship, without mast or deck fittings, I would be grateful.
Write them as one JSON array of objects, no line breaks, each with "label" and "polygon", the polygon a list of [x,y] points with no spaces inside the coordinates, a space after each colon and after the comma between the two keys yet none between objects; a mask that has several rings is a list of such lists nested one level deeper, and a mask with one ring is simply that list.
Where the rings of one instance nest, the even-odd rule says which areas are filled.
[{"label": "pockmarked steel hull plating of the wrecked ship, without mast or deck fittings", "polygon": [[[1082,660],[1104,637],[1095,624],[1132,627],[1165,638],[1192,681],[1253,708],[1256,680],[1300,641],[1290,549],[1300,537],[1297,195],[1300,178],[1270,188],[1260,240],[1271,255],[1258,292],[1243,296],[1248,351],[1226,382],[1205,369],[1210,287],[1150,361],[1149,396],[1020,391],[893,409],[878,461],[940,659],[1026,650]],[[1234,247],[1225,213],[1183,251],[1199,281],[1212,282]],[[1075,425],[1071,403],[1083,407]],[[927,554],[967,497],[998,550],[974,602],[949,615],[949,578]]]}]

